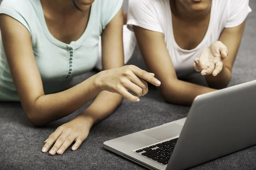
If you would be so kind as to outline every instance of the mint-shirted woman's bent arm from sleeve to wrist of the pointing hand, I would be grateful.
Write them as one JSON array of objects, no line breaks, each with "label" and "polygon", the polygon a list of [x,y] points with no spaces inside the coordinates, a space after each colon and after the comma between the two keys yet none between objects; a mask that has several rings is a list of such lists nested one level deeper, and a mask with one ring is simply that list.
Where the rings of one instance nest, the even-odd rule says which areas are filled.
[{"label": "mint-shirted woman's bent arm from sleeve to wrist of the pointing hand", "polygon": [[[29,31],[17,20],[0,16],[4,50],[20,102],[34,125],[45,125],[73,113],[93,99],[100,90],[95,77],[57,94],[45,95],[32,49]],[[27,69],[23,69],[26,65]]]}]

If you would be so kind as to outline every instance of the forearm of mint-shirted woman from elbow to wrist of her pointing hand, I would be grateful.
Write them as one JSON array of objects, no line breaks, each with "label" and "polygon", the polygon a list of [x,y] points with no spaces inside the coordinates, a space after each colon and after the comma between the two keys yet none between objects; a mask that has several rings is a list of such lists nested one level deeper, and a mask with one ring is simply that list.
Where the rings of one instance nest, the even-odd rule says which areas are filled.
[{"label": "forearm of mint-shirted woman from elbow to wrist of her pointing hand", "polygon": [[40,96],[31,105],[27,115],[33,124],[45,125],[73,113],[99,92],[93,76],[66,91]]}]

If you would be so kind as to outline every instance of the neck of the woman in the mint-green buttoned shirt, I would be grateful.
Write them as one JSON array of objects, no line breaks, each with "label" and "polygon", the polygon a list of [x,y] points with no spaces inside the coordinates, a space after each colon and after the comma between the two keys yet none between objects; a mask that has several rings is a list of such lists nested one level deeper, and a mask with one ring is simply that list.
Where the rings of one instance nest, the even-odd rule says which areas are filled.
[{"label": "neck of the woman in the mint-green buttoned shirt", "polygon": [[60,14],[62,16],[70,16],[71,14],[76,14],[76,13],[87,14],[90,11],[90,6],[91,6],[91,5],[81,5],[79,6],[79,8],[81,8],[82,11],[79,11],[73,6],[73,4],[71,3],[71,0],[41,0],[41,4],[45,8],[50,9],[51,11],[54,11],[55,14]]}]

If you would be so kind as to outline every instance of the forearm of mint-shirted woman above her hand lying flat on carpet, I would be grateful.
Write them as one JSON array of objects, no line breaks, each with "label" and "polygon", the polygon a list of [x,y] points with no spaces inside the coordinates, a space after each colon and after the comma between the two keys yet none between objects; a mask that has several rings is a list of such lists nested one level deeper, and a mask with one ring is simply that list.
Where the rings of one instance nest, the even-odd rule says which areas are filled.
[{"label": "forearm of mint-shirted woman above her hand lying flat on carpet", "polygon": [[123,97],[108,91],[102,91],[93,103],[81,113],[81,116],[89,116],[93,124],[105,119],[121,104]]}]

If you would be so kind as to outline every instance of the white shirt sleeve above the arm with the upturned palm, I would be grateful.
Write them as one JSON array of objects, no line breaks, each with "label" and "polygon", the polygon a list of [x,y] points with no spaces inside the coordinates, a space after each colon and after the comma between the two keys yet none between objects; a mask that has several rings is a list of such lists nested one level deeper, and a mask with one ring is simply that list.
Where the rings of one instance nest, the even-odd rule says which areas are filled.
[{"label": "white shirt sleeve above the arm with the upturned palm", "polygon": [[252,11],[249,0],[230,0],[230,8],[225,28],[233,28],[241,25]]}]

